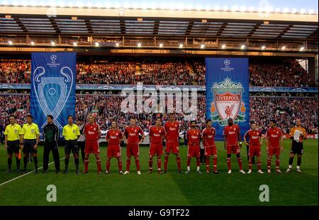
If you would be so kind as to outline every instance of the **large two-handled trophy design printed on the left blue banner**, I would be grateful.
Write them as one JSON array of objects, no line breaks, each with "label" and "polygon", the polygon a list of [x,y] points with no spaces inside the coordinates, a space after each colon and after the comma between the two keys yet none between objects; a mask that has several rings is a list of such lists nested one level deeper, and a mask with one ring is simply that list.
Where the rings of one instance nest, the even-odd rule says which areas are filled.
[{"label": "large two-handled trophy design printed on the left blue banner", "polygon": [[[51,56],[50,60],[52,59],[56,60],[56,57]],[[45,68],[37,67],[33,72],[33,89],[45,116],[52,115],[55,125],[58,128],[63,128],[57,118],[69,98],[73,85],[73,73],[69,67],[62,67],[60,74],[61,77],[43,77]],[[47,121],[43,123],[41,128],[46,124]]]}]

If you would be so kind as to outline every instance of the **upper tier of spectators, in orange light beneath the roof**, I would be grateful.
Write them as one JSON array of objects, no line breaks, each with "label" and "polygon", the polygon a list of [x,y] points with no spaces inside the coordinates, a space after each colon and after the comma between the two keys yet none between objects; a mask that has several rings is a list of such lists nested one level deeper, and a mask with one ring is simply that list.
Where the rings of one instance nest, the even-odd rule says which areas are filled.
[{"label": "upper tier of spectators, in orange light beneath the roof", "polygon": [[[204,58],[128,57],[77,62],[78,84],[205,85]],[[250,86],[316,87],[297,60],[250,59]],[[30,83],[30,60],[1,60],[0,83]]]}]

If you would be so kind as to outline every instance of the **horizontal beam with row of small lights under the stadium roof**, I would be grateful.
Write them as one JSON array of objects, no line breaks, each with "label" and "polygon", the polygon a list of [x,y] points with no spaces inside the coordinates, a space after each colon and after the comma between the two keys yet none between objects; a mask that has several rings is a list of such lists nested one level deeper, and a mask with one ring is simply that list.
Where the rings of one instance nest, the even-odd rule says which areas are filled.
[{"label": "horizontal beam with row of small lights under the stadium roof", "polygon": [[[53,42],[53,43],[52,43]],[[245,48],[242,48],[245,45]],[[318,53],[318,45],[308,45],[306,41],[286,43],[284,41],[271,43],[255,43],[247,41],[224,41],[224,40],[161,40],[161,39],[31,39],[31,38],[0,38],[0,46],[7,47],[58,47],[58,48],[135,48],[135,49],[159,49],[159,50],[260,50],[260,51],[309,51]]]}]

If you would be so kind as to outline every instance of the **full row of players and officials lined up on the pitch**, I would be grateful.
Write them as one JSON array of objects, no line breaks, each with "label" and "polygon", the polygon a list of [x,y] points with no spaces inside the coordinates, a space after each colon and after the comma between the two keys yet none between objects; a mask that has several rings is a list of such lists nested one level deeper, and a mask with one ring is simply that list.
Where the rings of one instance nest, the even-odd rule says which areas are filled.
[{"label": "full row of players and officials lined up on the pitch", "polygon": [[[94,116],[88,116],[89,123],[80,131],[79,126],[74,124],[73,116],[68,116],[68,124],[64,126],[62,130],[62,136],[65,138],[65,170],[63,173],[68,173],[69,157],[72,152],[74,156],[74,163],[76,166],[76,173],[79,174],[79,144],[78,139],[81,133],[85,136],[84,149],[84,170],[83,173],[88,172],[89,167],[89,155],[94,154],[96,158],[97,172],[102,173],[101,170],[101,159],[100,159],[100,148],[99,138],[101,131],[99,125],[95,122]],[[35,165],[35,173],[38,173],[38,143],[40,137],[40,131],[38,125],[33,123],[33,116],[27,116],[26,124],[19,126],[16,123],[16,119],[11,116],[10,124],[6,126],[5,130],[5,147],[8,153],[8,170],[11,172],[11,164],[13,153],[16,156],[16,172],[20,172],[20,158],[19,152],[23,150],[23,170],[22,174],[28,172],[27,163],[28,155],[33,156]],[[149,150],[149,170],[148,173],[152,173],[153,157],[157,157],[157,172],[159,174],[167,172],[167,164],[169,161],[169,154],[173,153],[176,155],[177,160],[177,171],[181,172],[181,156],[179,155],[179,122],[175,120],[175,114],[169,115],[169,121],[161,126],[161,119],[156,119],[155,126],[150,128],[150,150]],[[280,154],[283,150],[282,132],[280,128],[276,127],[276,121],[272,120],[269,124],[270,128],[265,134],[266,147],[267,147],[267,172],[271,172],[272,156],[276,156],[276,172],[280,173]],[[257,172],[263,173],[261,170],[261,145],[262,145],[262,132],[257,130],[255,123],[251,124],[251,129],[245,133],[244,142],[247,145],[248,156],[249,156],[249,170],[248,173],[252,172],[252,159],[257,157]],[[47,172],[49,154],[52,150],[52,155],[55,161],[55,172],[60,172],[60,155],[58,151],[58,137],[59,129],[53,123],[53,116],[47,116],[47,124],[43,128],[44,136],[44,152],[43,152],[43,173]],[[140,138],[141,136],[141,138]],[[187,170],[186,174],[191,172],[191,158],[196,158],[196,172],[202,173],[200,170],[200,141],[203,141],[205,148],[206,157],[206,173],[211,171],[214,174],[218,174],[217,170],[217,148],[215,143],[216,129],[212,126],[212,121],[206,121],[206,128],[200,131],[196,128],[196,121],[191,121],[191,128],[186,133],[186,139],[188,142],[187,149]],[[227,151],[227,165],[228,174],[232,172],[231,168],[231,155],[237,156],[237,162],[240,167],[240,173],[245,174],[242,169],[242,159],[240,157],[240,148],[242,148],[242,140],[240,138],[240,126],[233,123],[233,119],[228,119],[228,126],[223,129],[224,136],[224,149]],[[106,172],[110,173],[110,161],[111,158],[118,160],[118,170],[120,174],[127,175],[130,173],[131,158],[135,158],[135,165],[137,168],[138,175],[140,172],[140,148],[139,145],[144,141],[145,135],[142,129],[136,125],[136,119],[130,119],[130,125],[125,128],[122,133],[117,128],[116,121],[112,121],[111,129],[106,133],[106,141],[108,142],[107,148],[107,160],[106,160]],[[301,155],[303,154],[303,140],[306,138],[306,130],[301,126],[301,120],[296,120],[296,126],[291,128],[290,138],[292,140],[292,147],[290,151],[289,167],[286,172],[291,172],[293,158],[297,154],[298,161],[296,171],[301,172]],[[124,140],[127,143],[126,148],[126,170],[122,170],[121,160],[121,147],[120,143]],[[163,155],[163,141],[165,141],[165,158],[164,158],[164,170],[162,170],[162,155]],[[213,158],[213,170],[210,169],[210,158]]]}]

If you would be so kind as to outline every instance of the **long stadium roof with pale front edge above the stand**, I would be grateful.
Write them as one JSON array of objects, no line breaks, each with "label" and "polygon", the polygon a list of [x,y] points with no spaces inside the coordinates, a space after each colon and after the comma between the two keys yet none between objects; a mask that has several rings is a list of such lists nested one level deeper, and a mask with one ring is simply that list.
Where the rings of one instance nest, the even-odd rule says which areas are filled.
[{"label": "long stadium roof with pale front edge above the stand", "polygon": [[[30,13],[32,11],[32,13]],[[318,15],[0,6],[0,45],[238,48],[318,53]],[[76,42],[76,44],[74,44]],[[264,50],[263,49],[263,50]]]}]

